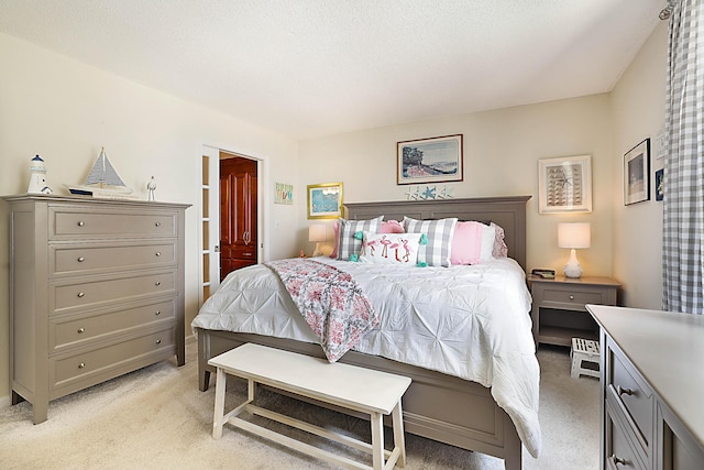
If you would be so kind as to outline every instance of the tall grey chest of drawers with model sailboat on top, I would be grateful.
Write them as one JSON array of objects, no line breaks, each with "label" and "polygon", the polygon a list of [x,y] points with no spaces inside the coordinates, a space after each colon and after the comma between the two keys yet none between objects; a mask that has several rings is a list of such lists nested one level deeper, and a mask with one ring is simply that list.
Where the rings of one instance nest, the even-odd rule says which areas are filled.
[{"label": "tall grey chest of drawers with model sailboat on top", "polygon": [[188,205],[9,196],[12,404],[48,402],[176,356],[185,363]]}]

